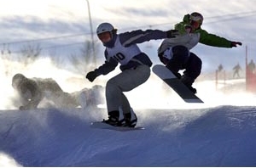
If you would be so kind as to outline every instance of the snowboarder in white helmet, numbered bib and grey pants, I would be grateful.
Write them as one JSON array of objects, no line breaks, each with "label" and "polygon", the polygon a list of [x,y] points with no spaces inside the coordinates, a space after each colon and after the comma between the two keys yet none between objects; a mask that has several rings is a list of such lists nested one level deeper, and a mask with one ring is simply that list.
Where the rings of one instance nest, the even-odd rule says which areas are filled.
[{"label": "snowboarder in white helmet, numbered bib and grey pants", "polygon": [[137,47],[137,43],[174,37],[177,31],[137,30],[117,34],[117,29],[114,29],[113,25],[102,23],[98,25],[96,33],[106,47],[106,61],[96,70],[90,71],[86,78],[94,81],[97,76],[107,75],[113,71],[118,64],[122,71],[106,84],[108,120],[103,122],[112,126],[134,127],[137,124],[137,116],[124,92],[129,92],[147,81],[152,65],[148,55]]}]

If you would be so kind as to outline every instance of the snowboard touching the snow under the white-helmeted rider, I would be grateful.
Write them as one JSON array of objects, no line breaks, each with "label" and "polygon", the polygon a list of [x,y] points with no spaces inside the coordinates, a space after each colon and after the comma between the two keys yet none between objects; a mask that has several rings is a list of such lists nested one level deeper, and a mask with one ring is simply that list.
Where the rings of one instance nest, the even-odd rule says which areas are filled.
[{"label": "snowboard touching the snow under the white-helmeted rider", "polygon": [[123,126],[111,126],[107,123],[104,123],[102,121],[96,121],[90,123],[91,128],[98,128],[98,129],[108,129],[113,131],[119,131],[119,132],[129,132],[129,131],[136,131],[136,130],[144,130],[145,128],[142,126],[137,127],[123,127]]}]

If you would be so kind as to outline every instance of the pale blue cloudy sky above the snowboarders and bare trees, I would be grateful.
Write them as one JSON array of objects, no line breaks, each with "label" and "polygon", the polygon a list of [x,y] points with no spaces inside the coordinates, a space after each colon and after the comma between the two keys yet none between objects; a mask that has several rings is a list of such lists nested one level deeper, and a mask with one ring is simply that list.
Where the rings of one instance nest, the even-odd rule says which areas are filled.
[{"label": "pale blue cloudy sky above the snowboarders and bare trees", "polygon": [[[203,70],[215,70],[223,64],[229,70],[237,63],[245,64],[245,46],[248,58],[253,59],[255,45],[256,10],[255,0],[205,1],[205,0],[88,0],[94,33],[99,44],[98,58],[102,57],[102,46],[95,36],[96,26],[111,22],[119,32],[135,29],[173,28],[183,14],[198,11],[204,15],[203,29],[224,36],[229,40],[241,41],[240,48],[212,48],[199,44],[192,51],[203,60]],[[19,52],[27,41],[38,42],[44,54],[52,48],[58,52],[63,46],[69,52],[78,52],[84,40],[90,40],[90,21],[86,0],[0,0],[0,48]],[[156,49],[160,41],[145,42],[140,47],[158,62]],[[67,52],[66,52],[67,53]],[[67,53],[70,54],[70,53]]]}]

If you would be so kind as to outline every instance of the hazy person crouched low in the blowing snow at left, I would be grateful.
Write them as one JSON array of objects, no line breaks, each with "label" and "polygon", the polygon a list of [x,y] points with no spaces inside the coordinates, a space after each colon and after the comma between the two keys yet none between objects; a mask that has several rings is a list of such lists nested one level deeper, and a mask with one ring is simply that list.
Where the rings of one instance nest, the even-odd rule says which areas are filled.
[{"label": "hazy person crouched low in the blowing snow at left", "polygon": [[[26,78],[22,74],[16,74],[12,79],[12,87],[18,93],[21,110],[37,109],[38,104],[46,98],[54,103],[57,108],[76,108],[89,105],[97,105],[103,102],[101,96],[102,86],[94,86],[91,89],[84,88],[80,92],[63,92],[58,83],[51,79]],[[90,100],[93,99],[93,100]]]}]

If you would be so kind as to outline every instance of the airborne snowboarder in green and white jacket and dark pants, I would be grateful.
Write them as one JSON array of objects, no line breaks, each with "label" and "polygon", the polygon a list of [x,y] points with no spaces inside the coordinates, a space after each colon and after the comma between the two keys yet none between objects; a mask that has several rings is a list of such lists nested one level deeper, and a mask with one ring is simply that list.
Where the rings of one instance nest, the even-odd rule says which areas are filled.
[{"label": "airborne snowboarder in green and white jacket and dark pants", "polygon": [[[192,87],[195,79],[201,74],[201,59],[195,53],[189,52],[200,42],[218,48],[236,48],[241,42],[233,42],[224,37],[216,36],[201,29],[203,16],[197,12],[185,14],[183,21],[175,25],[180,35],[165,39],[158,48],[160,61],[172,71],[181,81],[196,93]],[[181,76],[178,71],[183,71]]]}]

